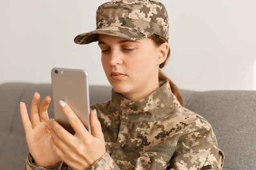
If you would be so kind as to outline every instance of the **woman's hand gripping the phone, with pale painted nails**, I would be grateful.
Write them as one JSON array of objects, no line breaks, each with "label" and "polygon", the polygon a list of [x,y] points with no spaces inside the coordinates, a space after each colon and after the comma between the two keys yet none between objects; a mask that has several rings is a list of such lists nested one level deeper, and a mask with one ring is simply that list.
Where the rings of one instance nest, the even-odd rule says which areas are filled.
[{"label": "woman's hand gripping the phone, with pale painted nails", "polygon": [[105,140],[96,110],[90,112],[92,134],[85,128],[67,103],[60,102],[61,109],[75,135],[70,134],[57,121],[50,119],[52,150],[74,170],[84,170],[92,166],[106,153]]}]

